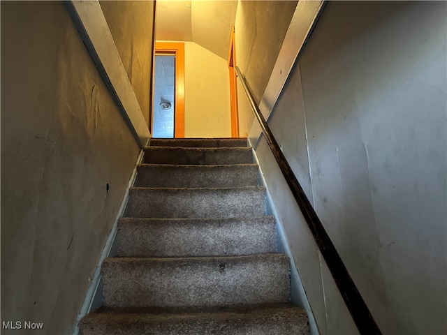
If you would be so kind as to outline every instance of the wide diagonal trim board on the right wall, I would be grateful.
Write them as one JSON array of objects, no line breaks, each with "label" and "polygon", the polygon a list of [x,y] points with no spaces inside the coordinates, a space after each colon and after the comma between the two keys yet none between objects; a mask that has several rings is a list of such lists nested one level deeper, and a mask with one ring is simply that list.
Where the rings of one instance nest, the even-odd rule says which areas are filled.
[{"label": "wide diagonal trim board on the right wall", "polygon": [[[259,109],[265,120],[268,121],[270,118],[287,78],[304,49],[305,43],[311,36],[325,4],[325,0],[298,1],[281,45],[281,50],[279,50],[277,61],[274,64],[267,87],[265,87],[263,97],[261,98],[261,103],[259,103]],[[258,121],[255,118],[249,130],[249,137],[251,137],[254,148],[258,146],[258,140],[262,134],[261,128],[257,126],[257,123]]]}]

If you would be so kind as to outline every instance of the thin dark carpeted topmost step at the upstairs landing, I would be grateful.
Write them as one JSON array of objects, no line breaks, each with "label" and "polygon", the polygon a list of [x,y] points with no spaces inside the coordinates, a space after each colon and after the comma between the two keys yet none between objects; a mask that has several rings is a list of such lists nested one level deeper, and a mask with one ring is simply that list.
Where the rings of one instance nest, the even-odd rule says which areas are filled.
[{"label": "thin dark carpeted topmost step at the upstairs landing", "polygon": [[247,147],[247,138],[152,138],[151,147]]}]

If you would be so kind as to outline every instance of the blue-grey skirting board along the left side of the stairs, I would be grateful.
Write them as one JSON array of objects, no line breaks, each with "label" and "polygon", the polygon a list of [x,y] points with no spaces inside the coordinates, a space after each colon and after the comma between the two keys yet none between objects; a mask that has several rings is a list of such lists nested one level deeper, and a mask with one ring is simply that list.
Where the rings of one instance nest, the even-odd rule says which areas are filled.
[{"label": "blue-grey skirting board along the left side of the stairs", "polygon": [[98,260],[98,264],[96,265],[93,273],[93,277],[91,278],[89,288],[87,289],[87,294],[85,295],[84,303],[80,309],[78,316],[76,317],[75,325],[73,327],[73,335],[79,334],[79,322],[82,318],[85,317],[90,311],[94,311],[96,308],[101,306],[103,300],[103,279],[101,276],[101,266],[105,258],[113,257],[117,254],[117,230],[118,230],[118,221],[126,211],[127,203],[129,202],[129,189],[133,187],[137,178],[137,167],[142,162],[142,158],[145,155],[145,150],[140,150],[140,154],[138,155],[137,161],[135,162],[135,167],[133,168],[133,172],[131,178],[129,179],[129,183],[127,184],[126,191],[124,192],[123,200],[121,202],[121,206],[119,207],[118,214],[115,218],[115,222],[112,225],[112,229],[110,230],[110,234],[105,241],[103,251]]}]

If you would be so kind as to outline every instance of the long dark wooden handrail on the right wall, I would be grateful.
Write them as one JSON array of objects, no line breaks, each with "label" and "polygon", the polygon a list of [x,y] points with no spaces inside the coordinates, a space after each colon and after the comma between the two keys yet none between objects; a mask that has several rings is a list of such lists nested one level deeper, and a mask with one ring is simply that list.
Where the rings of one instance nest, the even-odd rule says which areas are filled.
[{"label": "long dark wooden handrail on the right wall", "polygon": [[259,125],[261,126],[265,140],[267,140],[273,156],[276,158],[282,174],[284,174],[288,187],[292,191],[293,198],[295,198],[298,207],[301,209],[302,215],[304,216],[305,221],[309,226],[312,235],[314,236],[321,255],[323,255],[323,258],[328,265],[330,274],[332,274],[332,278],[334,278],[335,284],[337,285],[337,288],[339,289],[339,292],[342,295],[346,306],[348,307],[349,313],[351,313],[351,316],[356,323],[358,331],[362,335],[380,335],[381,331],[379,327],[376,325],[376,322],[374,321],[372,314],[369,312],[365,301],[362,299],[360,292],[358,292],[356,284],[353,282],[348,270],[344,266],[342,258],[340,258],[334,244],[332,244],[332,241],[330,240],[328,233],[325,231],[323,224],[316,215],[312,204],[309,202],[305,192],[302,190],[302,187],[300,186],[298,179],[295,177],[293,170],[291,169],[290,165],[288,165],[286,157],[279,148],[277,140],[275,140],[272,131],[270,131],[261,110],[259,110],[258,105],[256,105],[253,95],[251,94],[249,87],[247,87],[247,83],[245,82],[239,67],[236,66],[235,69],[237,77],[239,77],[242,87],[244,87],[245,94],[249,99],[254,115],[256,119],[258,119]]}]

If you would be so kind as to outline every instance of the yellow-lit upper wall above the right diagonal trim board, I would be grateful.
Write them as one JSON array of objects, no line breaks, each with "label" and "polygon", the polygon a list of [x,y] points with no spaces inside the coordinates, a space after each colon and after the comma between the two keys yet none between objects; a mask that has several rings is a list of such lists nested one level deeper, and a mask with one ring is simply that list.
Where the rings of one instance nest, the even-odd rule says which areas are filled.
[{"label": "yellow-lit upper wall above the right diagonal trim board", "polygon": [[[235,19],[236,65],[247,80],[257,103],[261,101],[298,1],[239,1]],[[239,96],[239,133],[247,136],[254,116]]]}]

